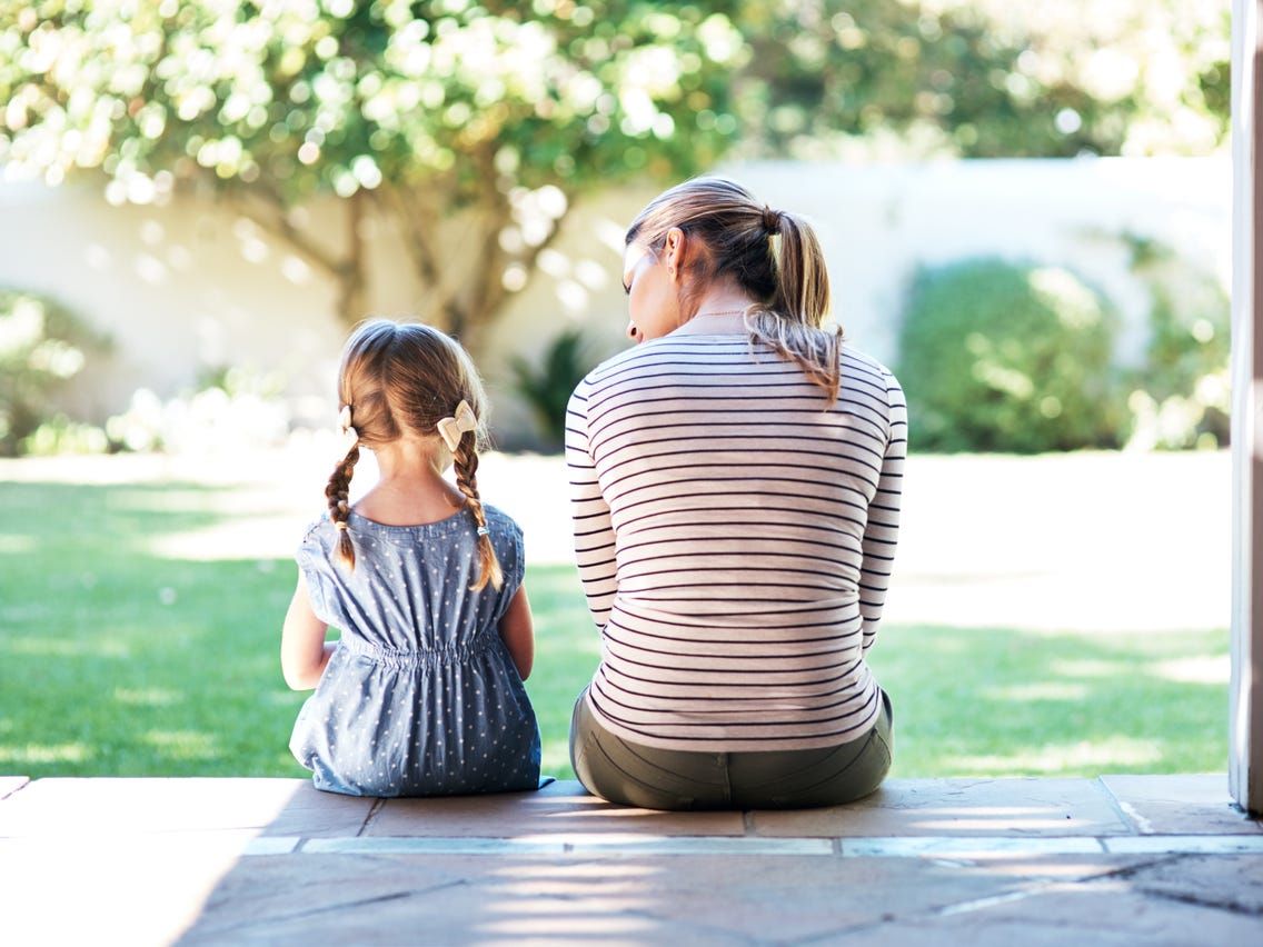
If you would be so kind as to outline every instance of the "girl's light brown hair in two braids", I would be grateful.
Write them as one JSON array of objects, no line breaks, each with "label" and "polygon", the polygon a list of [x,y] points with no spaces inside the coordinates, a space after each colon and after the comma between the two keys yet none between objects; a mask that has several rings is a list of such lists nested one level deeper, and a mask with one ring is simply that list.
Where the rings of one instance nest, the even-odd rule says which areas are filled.
[{"label": "girl's light brown hair in two braids", "polygon": [[504,582],[500,562],[486,533],[486,513],[477,491],[479,448],[485,446],[488,402],[482,381],[458,342],[417,322],[370,319],[361,322],[346,342],[337,372],[341,404],[351,409],[357,442],[346,453],[325,487],[328,515],[338,529],[338,558],[355,568],[349,494],[360,444],[380,447],[404,436],[438,437],[438,422],[467,402],[477,418],[475,431],[461,433],[452,451],[456,485],[479,527],[481,572],[472,588]]}]

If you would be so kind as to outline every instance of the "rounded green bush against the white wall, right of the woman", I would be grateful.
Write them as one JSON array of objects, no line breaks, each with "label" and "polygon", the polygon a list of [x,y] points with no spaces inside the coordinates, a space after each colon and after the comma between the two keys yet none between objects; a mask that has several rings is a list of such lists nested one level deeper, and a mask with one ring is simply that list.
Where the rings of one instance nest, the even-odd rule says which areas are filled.
[{"label": "rounded green bush against the white wall, right of the woman", "polygon": [[997,259],[921,270],[899,379],[919,451],[1115,447],[1115,316],[1074,274]]}]

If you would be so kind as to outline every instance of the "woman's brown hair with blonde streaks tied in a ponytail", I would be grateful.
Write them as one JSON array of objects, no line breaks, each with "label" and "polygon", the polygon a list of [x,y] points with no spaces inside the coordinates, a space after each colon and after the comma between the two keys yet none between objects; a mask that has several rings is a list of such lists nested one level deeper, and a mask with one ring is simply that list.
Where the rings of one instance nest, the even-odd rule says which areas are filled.
[{"label": "woman's brown hair with blonde streaks tied in a ponytail", "polygon": [[628,229],[654,253],[678,227],[701,244],[683,263],[679,304],[687,318],[716,279],[731,278],[758,303],[745,313],[750,340],[792,359],[837,399],[842,330],[821,328],[829,313],[829,274],[816,232],[801,217],[760,205],[736,182],[693,178],[663,192]]}]

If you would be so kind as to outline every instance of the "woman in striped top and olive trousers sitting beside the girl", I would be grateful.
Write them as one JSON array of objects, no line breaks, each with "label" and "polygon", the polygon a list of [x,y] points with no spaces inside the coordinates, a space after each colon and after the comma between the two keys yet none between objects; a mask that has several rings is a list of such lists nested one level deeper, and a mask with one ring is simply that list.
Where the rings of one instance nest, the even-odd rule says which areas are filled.
[{"label": "woman in striped top and olive trousers sitting beside the girl", "polygon": [[638,346],[567,419],[575,544],[601,662],[571,721],[589,792],[658,809],[832,806],[890,766],[865,663],[898,529],[907,409],[821,323],[799,217],[720,178],[632,223]]}]

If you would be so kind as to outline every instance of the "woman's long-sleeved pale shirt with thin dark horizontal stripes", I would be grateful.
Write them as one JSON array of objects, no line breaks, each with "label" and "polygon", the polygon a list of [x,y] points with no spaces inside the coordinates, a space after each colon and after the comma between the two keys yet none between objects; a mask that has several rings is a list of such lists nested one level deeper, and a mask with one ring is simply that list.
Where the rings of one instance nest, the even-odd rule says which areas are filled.
[{"label": "woman's long-sleeved pale shirt with thin dark horizontal stripes", "polygon": [[575,390],[575,548],[602,633],[589,701],[677,750],[831,746],[879,691],[864,655],[898,533],[907,408],[850,348],[827,398],[744,335],[676,333]]}]

